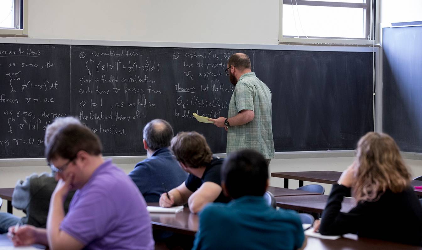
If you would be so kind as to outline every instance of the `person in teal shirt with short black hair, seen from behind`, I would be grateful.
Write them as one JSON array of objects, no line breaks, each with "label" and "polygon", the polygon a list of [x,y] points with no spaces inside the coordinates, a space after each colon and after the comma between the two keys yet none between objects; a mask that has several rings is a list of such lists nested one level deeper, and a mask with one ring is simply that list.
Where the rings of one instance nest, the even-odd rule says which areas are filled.
[{"label": "person in teal shirt with short black hair, seen from behind", "polygon": [[199,213],[192,250],[294,250],[306,245],[302,223],[294,211],[275,210],[263,195],[268,165],[262,154],[246,149],[230,154],[221,172],[222,188],[233,200],[210,203]]}]

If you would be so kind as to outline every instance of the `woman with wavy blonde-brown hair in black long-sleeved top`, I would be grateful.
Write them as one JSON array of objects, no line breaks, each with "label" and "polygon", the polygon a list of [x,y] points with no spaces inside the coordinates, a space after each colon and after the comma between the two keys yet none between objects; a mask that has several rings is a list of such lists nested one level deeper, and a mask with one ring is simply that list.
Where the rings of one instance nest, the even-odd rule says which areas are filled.
[{"label": "woman with wavy blonde-brown hair in black long-sleeved top", "polygon": [[[354,162],[333,185],[315,231],[422,245],[422,207],[410,178],[395,141],[388,134],[368,132],[357,143]],[[343,197],[351,194],[355,207],[340,212]]]}]

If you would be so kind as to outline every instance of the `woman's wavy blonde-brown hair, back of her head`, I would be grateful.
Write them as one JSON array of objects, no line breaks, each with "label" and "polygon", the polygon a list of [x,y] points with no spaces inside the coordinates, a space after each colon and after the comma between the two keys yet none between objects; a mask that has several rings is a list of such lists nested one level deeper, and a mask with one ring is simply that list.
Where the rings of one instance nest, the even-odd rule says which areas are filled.
[{"label": "woman's wavy blonde-brown hair, back of her head", "polygon": [[400,150],[388,134],[368,132],[357,142],[354,162],[357,201],[373,201],[386,190],[400,193],[410,185],[411,174]]}]

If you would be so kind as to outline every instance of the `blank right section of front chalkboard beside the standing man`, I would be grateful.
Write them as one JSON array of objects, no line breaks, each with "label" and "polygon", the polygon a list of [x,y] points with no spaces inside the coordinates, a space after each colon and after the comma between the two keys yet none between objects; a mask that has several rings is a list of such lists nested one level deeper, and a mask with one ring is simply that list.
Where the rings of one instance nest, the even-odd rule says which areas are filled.
[{"label": "blank right section of front chalkboard beside the standing man", "polygon": [[273,94],[276,151],[354,149],[373,131],[373,55],[260,51],[255,72]]}]

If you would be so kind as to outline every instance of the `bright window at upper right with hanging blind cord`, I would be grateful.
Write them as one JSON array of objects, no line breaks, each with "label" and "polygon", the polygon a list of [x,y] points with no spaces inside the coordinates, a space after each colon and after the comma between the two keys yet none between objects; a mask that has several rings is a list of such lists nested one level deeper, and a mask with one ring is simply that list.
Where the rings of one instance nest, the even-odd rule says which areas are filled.
[{"label": "bright window at upper right with hanging blind cord", "polygon": [[[281,42],[334,39],[365,44],[374,39],[375,0],[280,0]],[[311,39],[309,39],[311,38]],[[292,40],[293,39],[293,40]],[[302,40],[302,41],[300,41]],[[359,41],[361,40],[361,41]],[[340,42],[341,43],[341,42]]]}]

